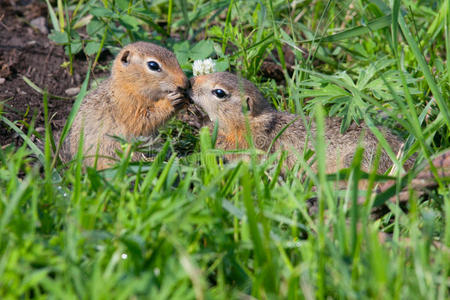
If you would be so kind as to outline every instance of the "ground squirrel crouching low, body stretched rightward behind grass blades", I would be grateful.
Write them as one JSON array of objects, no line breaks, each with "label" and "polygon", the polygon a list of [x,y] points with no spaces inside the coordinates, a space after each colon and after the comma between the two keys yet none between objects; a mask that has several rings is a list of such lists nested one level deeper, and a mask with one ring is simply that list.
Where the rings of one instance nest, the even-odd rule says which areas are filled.
[{"label": "ground squirrel crouching low, body stretched rightward behind grass blades", "polygon": [[[210,127],[218,121],[217,148],[224,150],[248,148],[247,121],[244,114],[246,106],[248,125],[256,148],[267,151],[278,133],[292,122],[274,142],[271,152],[287,150],[289,152],[287,167],[291,168],[297,161],[295,152],[302,153],[307,142],[308,147],[314,149],[316,132],[314,122],[310,122],[309,118],[306,118],[305,122],[297,115],[276,111],[250,81],[231,73],[220,72],[194,77],[191,79],[191,85],[190,97],[208,114],[212,121]],[[310,123],[309,139],[307,123]],[[360,140],[365,150],[362,168],[370,170],[377,149],[377,138],[363,124],[352,124],[342,134],[340,123],[341,120],[338,118],[327,118],[325,122],[327,172],[348,167]],[[397,153],[402,145],[401,141],[388,131],[383,130],[383,133],[392,150]],[[233,160],[239,156],[227,154],[225,157]],[[378,171],[385,172],[390,166],[392,161],[383,151]]]}]

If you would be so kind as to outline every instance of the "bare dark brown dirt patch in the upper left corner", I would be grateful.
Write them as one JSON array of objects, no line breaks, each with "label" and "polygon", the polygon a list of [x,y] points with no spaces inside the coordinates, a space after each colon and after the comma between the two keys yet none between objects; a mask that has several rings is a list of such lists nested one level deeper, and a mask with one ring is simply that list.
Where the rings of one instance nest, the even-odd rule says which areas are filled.
[{"label": "bare dark brown dirt patch in the upper left corner", "polygon": [[[43,96],[31,88],[23,76],[52,95],[69,97],[65,91],[80,87],[87,72],[84,57],[76,57],[73,75],[61,65],[68,60],[62,46],[47,38],[33,20],[44,17],[47,7],[39,0],[0,1],[0,108],[2,115],[27,132],[26,126],[36,116],[36,130],[44,126]],[[41,18],[41,20],[43,20]],[[41,30],[49,30],[48,24]],[[73,98],[73,97],[72,97]],[[49,115],[54,130],[64,126],[73,99],[49,99]],[[0,145],[20,143],[17,134],[0,122]]]}]

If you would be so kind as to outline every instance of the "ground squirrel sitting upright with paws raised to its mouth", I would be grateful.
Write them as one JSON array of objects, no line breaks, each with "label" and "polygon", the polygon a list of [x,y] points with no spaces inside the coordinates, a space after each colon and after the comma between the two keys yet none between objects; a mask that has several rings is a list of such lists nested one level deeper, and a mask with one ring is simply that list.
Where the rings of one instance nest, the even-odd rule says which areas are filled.
[{"label": "ground squirrel sitting upright with paws raised to its mouth", "polygon": [[[65,160],[76,154],[83,134],[85,165],[103,169],[117,158],[119,136],[150,136],[188,101],[189,81],[171,51],[146,42],[125,46],[110,78],[83,100],[64,141]],[[137,156],[133,157],[137,159]]]}]

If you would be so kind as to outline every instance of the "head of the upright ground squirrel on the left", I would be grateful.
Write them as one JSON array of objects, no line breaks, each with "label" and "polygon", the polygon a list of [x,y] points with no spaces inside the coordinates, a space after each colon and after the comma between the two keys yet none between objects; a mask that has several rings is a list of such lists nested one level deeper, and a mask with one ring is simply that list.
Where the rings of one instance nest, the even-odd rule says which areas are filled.
[{"label": "head of the upright ground squirrel on the left", "polygon": [[114,60],[112,80],[126,94],[153,101],[170,93],[184,94],[189,87],[175,54],[146,42],[129,44],[120,51]]}]

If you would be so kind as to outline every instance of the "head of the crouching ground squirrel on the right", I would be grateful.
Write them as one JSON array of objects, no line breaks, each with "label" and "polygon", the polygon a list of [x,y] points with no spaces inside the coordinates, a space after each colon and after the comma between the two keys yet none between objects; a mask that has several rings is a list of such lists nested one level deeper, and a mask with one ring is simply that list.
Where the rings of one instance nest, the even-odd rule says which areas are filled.
[{"label": "head of the crouching ground squirrel on the right", "polygon": [[228,72],[211,73],[191,79],[189,96],[211,121],[228,123],[245,120],[245,113],[257,117],[271,106],[258,88],[242,77]]}]

